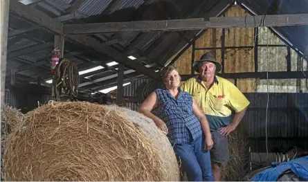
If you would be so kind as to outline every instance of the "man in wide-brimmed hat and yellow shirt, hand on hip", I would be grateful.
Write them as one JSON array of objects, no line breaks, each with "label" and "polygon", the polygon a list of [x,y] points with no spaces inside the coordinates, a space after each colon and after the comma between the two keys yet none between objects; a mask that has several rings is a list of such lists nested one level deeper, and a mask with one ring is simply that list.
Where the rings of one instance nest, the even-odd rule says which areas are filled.
[{"label": "man in wide-brimmed hat and yellow shirt, hand on hip", "polygon": [[250,102],[234,84],[215,75],[221,71],[221,64],[211,53],[202,55],[192,69],[199,76],[185,81],[181,89],[190,93],[206,114],[214,142],[210,150],[212,172],[215,181],[221,181],[221,165],[229,160],[227,135],[239,125]]}]

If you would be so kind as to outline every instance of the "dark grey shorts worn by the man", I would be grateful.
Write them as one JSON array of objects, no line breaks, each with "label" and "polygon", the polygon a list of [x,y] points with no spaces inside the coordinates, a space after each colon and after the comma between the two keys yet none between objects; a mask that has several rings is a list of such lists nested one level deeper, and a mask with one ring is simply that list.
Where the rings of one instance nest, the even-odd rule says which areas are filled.
[{"label": "dark grey shorts worn by the man", "polygon": [[212,131],[214,145],[210,149],[210,158],[216,163],[226,163],[229,161],[228,137],[222,136],[220,131]]}]

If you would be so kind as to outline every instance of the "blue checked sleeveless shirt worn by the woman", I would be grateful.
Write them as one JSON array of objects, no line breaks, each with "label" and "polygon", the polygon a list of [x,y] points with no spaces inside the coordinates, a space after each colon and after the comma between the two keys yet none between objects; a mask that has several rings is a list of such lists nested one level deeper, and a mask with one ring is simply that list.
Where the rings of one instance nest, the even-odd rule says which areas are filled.
[{"label": "blue checked sleeveless shirt worn by the woman", "polygon": [[168,128],[167,137],[171,143],[188,143],[202,135],[200,122],[192,111],[192,96],[179,89],[178,98],[174,98],[167,89],[156,89],[158,109],[156,116],[163,120]]}]

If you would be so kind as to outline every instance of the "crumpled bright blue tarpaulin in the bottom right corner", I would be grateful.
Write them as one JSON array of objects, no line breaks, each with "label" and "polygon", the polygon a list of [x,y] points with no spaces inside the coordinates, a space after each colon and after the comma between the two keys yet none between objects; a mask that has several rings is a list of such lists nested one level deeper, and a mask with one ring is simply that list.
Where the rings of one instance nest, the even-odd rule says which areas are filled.
[{"label": "crumpled bright blue tarpaulin in the bottom right corner", "polygon": [[296,158],[288,162],[272,163],[271,167],[255,174],[252,181],[277,181],[285,171],[292,170],[294,174],[308,181],[308,156]]}]

